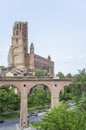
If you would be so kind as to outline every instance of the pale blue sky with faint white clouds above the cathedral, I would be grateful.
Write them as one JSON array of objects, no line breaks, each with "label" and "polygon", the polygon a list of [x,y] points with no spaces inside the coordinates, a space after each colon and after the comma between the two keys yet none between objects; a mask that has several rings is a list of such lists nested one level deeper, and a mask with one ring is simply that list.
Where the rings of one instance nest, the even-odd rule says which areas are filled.
[{"label": "pale blue sky with faint white clouds above the cathedral", "polygon": [[33,42],[35,54],[51,56],[55,74],[86,68],[86,0],[1,1],[0,66],[8,66],[16,21],[28,22],[28,46]]}]

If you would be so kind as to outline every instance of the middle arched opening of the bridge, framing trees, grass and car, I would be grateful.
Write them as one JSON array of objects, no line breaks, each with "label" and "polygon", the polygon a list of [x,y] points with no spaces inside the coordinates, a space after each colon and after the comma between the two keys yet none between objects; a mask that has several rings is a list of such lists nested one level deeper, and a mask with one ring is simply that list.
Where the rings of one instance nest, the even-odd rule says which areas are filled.
[{"label": "middle arched opening of the bridge, framing trees, grass and car", "polygon": [[28,117],[31,117],[31,119],[29,119],[29,123],[40,122],[42,116],[39,115],[47,112],[50,107],[51,94],[48,86],[44,84],[37,84],[31,87],[28,95]]}]

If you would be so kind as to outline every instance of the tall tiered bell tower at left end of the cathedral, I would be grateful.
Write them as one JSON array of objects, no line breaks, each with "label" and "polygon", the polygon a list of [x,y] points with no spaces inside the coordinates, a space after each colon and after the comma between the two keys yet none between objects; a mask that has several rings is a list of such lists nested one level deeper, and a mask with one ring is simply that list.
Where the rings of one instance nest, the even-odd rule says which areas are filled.
[{"label": "tall tiered bell tower at left end of the cathedral", "polygon": [[26,68],[28,55],[28,24],[15,22],[13,27],[12,45],[9,50],[9,66],[18,69]]}]

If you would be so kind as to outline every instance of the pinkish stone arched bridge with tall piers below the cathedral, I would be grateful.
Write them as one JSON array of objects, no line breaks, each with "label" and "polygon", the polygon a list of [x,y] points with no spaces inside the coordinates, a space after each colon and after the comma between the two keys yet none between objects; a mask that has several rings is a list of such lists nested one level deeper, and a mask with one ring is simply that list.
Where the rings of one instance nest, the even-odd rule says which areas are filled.
[{"label": "pinkish stone arched bridge with tall piers below the cathedral", "polygon": [[48,87],[51,94],[51,107],[53,108],[59,102],[59,93],[64,90],[65,85],[69,85],[71,79],[54,79],[52,77],[0,77],[0,87],[14,86],[21,94],[21,106],[20,106],[20,125],[25,123],[28,126],[28,107],[27,97],[30,94],[30,90],[37,85],[44,85]]}]

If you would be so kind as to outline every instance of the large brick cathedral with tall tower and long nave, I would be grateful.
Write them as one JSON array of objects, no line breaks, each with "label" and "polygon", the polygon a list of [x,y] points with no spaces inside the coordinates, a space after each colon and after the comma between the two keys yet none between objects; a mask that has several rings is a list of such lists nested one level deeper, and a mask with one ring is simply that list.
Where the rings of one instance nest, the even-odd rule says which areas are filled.
[{"label": "large brick cathedral with tall tower and long nave", "polygon": [[15,22],[14,24],[8,63],[8,68],[14,75],[25,72],[28,72],[28,75],[34,75],[36,71],[43,71],[46,76],[54,76],[54,62],[51,61],[50,56],[44,58],[35,54],[33,43],[28,53],[27,22]]}]

